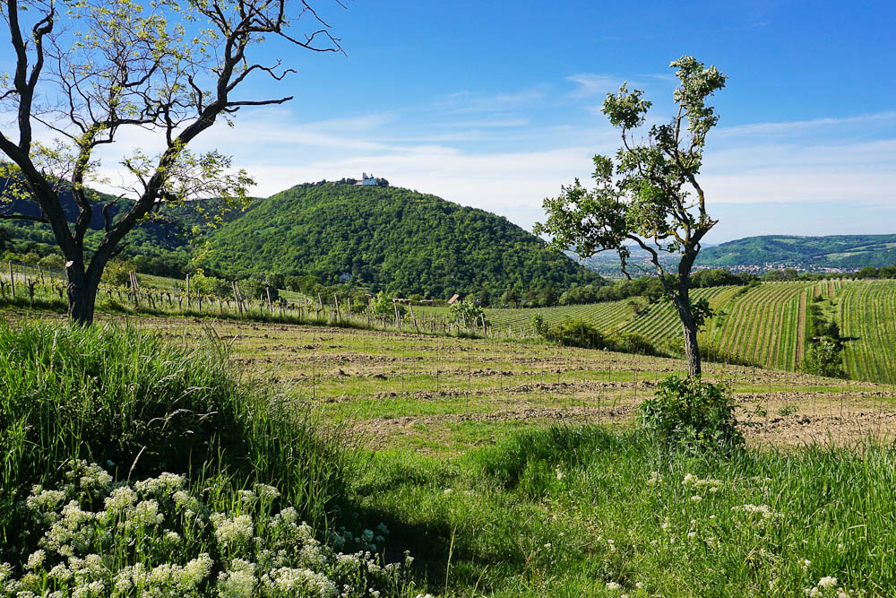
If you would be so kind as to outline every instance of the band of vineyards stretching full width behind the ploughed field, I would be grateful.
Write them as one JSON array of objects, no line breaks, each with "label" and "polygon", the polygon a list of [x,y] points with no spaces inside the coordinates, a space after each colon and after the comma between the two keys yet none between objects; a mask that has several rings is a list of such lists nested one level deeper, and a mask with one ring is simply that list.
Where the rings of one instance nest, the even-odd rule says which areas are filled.
[{"label": "band of vineyards stretching full width behind the ploughed field", "polygon": [[[249,317],[288,323],[339,319],[344,325],[356,327],[429,332],[444,332],[448,315],[448,308],[417,306],[415,317],[408,314],[400,325],[395,325],[388,318],[347,315],[343,307],[337,317],[332,306],[324,304],[323,311],[308,308],[305,296],[287,291],[281,291],[281,295],[291,304],[288,308],[276,302],[269,306],[247,301],[243,313],[230,299],[194,297],[186,301],[175,292],[176,284],[171,279],[142,276],[142,280],[158,290],[142,291],[135,304],[126,290],[104,288],[99,292],[98,309],[151,315]],[[38,308],[65,309],[60,286],[38,285],[36,290]],[[25,292],[20,282],[13,305],[29,305]],[[896,384],[896,359],[892,352],[896,346],[896,281],[762,282],[748,287],[695,289],[692,297],[708,299],[718,314],[699,336],[704,354],[711,360],[798,371],[806,351],[806,312],[816,298],[846,339],[843,369],[847,375],[857,380]],[[0,302],[10,303],[5,295]],[[487,308],[485,312],[491,326],[489,334],[498,338],[533,337],[532,318],[536,315],[548,325],[569,317],[589,322],[604,334],[638,334],[665,354],[675,354],[680,337],[680,324],[671,303],[649,304],[641,297],[555,308]],[[452,330],[453,334],[461,333],[459,329]],[[468,332],[482,334],[481,330]]]}]

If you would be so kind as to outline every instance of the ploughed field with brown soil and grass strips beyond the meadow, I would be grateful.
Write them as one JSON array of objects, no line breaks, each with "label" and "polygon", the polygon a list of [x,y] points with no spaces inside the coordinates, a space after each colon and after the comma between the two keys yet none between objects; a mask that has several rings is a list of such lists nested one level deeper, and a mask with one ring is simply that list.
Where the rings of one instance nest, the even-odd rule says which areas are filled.
[{"label": "ploughed field with brown soil and grass strips beyond the meadow", "polygon": [[[213,329],[246,376],[271,381],[367,446],[435,453],[494,442],[552,422],[627,426],[657,382],[684,362],[607,351],[352,330],[141,318],[176,342]],[[728,383],[751,445],[896,438],[896,388],[781,371],[704,364]]]}]

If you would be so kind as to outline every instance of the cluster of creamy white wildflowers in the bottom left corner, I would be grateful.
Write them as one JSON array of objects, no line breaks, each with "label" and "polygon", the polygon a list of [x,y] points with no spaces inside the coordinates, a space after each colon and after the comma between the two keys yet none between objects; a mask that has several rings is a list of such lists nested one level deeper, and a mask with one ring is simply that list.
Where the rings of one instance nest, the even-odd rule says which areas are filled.
[{"label": "cluster of creamy white wildflowers in the bottom left corner", "polygon": [[[273,508],[280,492],[271,486],[228,493],[225,508],[191,494],[173,473],[116,484],[99,466],[75,461],[65,480],[23,501],[39,547],[21,576],[0,563],[0,598],[360,598],[409,589],[409,554],[383,565],[375,552],[385,525],[357,535],[341,528],[323,544],[295,508]],[[337,539],[337,550],[360,550],[337,552]]]}]

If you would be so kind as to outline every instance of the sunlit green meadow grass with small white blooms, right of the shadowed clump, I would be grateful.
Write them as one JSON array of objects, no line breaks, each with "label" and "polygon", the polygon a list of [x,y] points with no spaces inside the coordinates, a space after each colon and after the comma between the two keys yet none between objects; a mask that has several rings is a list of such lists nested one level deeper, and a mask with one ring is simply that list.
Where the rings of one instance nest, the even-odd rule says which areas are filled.
[{"label": "sunlit green meadow grass with small white blooms, right of the shadowed clump", "polygon": [[454,460],[381,452],[356,492],[447,595],[803,596],[834,576],[889,596],[894,457],[868,442],[719,459],[560,427]]}]

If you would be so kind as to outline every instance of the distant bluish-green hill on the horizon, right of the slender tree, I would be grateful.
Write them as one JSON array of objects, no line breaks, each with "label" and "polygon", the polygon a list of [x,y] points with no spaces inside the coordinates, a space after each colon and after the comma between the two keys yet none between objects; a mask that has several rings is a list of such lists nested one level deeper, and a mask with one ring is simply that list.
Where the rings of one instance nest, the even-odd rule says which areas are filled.
[{"label": "distant bluish-green hill on the horizon, right of the slender tree", "polygon": [[793,267],[882,267],[896,262],[896,235],[832,235],[793,237],[768,235],[740,238],[707,247],[699,263],[717,267],[784,265]]}]

